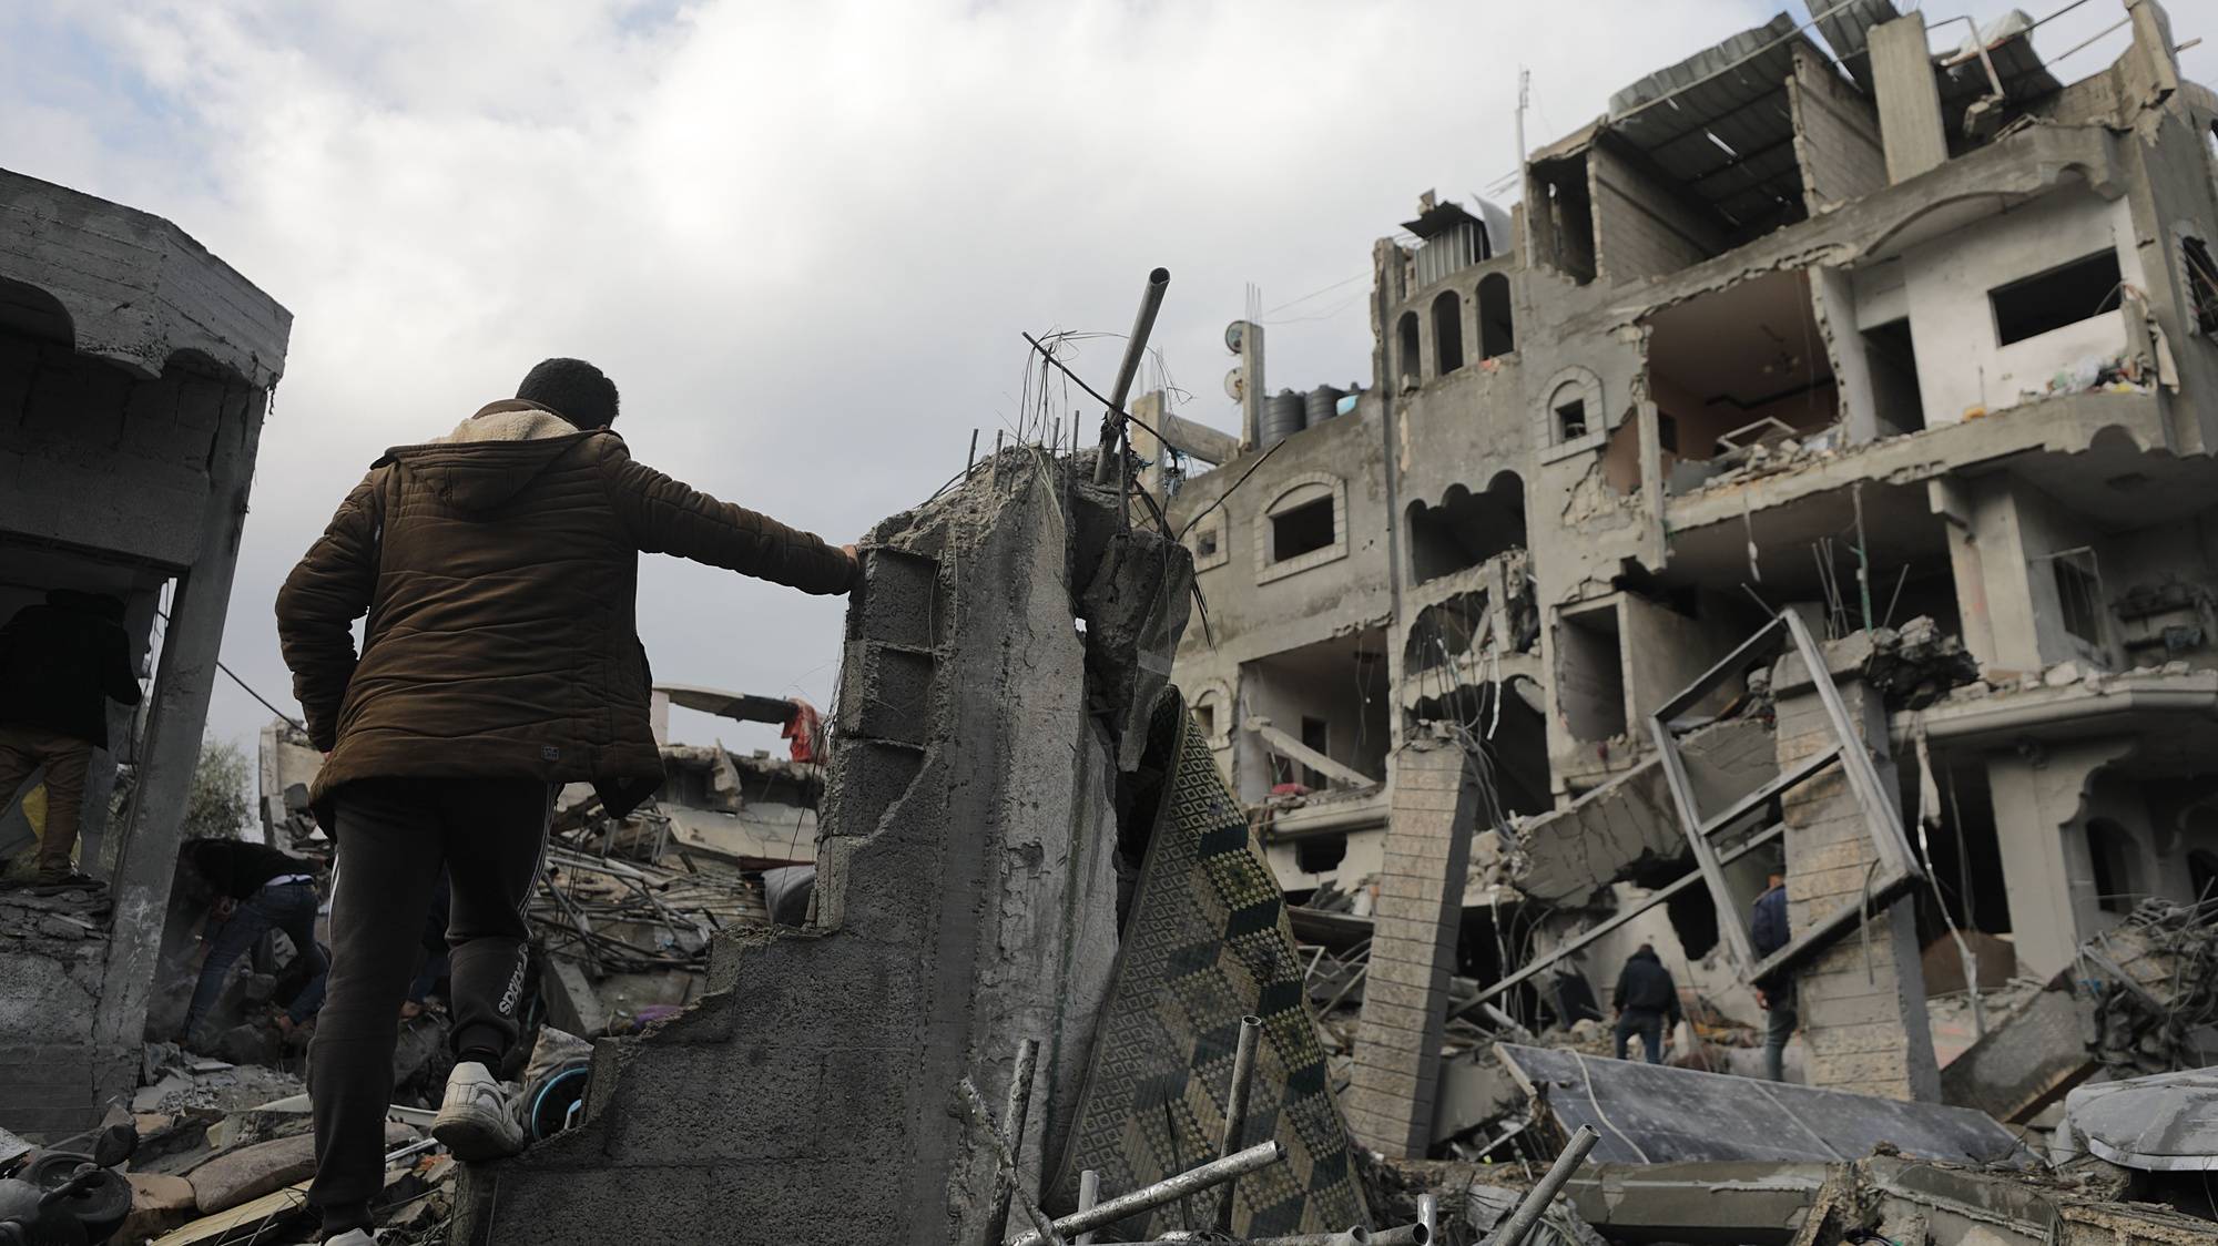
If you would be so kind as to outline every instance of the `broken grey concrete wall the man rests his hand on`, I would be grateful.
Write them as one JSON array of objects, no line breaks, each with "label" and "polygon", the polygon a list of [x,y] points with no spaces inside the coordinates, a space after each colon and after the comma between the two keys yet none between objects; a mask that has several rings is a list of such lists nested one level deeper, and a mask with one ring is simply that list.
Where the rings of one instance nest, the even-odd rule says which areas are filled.
[{"label": "broken grey concrete wall the man rests his hand on", "polygon": [[[1074,625],[1096,570],[1076,550],[1107,541],[1080,541],[1060,477],[1011,450],[872,532],[818,925],[723,936],[708,998],[601,1042],[588,1120],[477,1175],[468,1239],[980,1239],[994,1171],[954,1089],[1000,1104],[1022,1038],[1042,1044],[1020,1146],[1040,1171],[1116,953],[1113,741]],[[1127,588],[1182,610],[1178,559]]]}]

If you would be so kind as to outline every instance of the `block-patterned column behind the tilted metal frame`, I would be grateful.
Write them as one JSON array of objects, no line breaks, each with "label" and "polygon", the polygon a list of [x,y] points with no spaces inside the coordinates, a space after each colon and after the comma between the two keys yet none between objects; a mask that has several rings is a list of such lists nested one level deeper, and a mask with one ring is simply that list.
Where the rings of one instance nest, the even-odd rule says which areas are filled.
[{"label": "block-patterned column behind the tilted metal frame", "polygon": [[[1830,650],[1848,656],[1865,647],[1839,643]],[[1837,734],[1799,658],[1781,661],[1772,678],[1779,696],[1779,769],[1788,769],[1832,745]],[[1859,670],[1834,678],[1861,738],[1856,743],[1870,749],[1879,785],[1892,798],[1899,776],[1888,756],[1885,707]],[[1788,791],[1783,809],[1788,920],[1801,933],[1825,913],[1861,900],[1879,854],[1863,807],[1839,767]],[[1861,931],[1817,953],[1794,976],[1812,1086],[1892,1100],[1941,1097],[1919,951],[1916,909],[1910,900],[1899,900],[1870,916]]]}]

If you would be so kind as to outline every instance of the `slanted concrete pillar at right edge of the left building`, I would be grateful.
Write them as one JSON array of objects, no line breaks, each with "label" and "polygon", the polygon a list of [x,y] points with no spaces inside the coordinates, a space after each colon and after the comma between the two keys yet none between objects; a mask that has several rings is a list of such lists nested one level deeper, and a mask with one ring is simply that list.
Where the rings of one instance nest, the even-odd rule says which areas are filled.
[{"label": "slanted concrete pillar at right edge of the left building", "polygon": [[208,503],[200,517],[200,556],[177,579],[162,641],[138,798],[131,825],[122,827],[124,840],[109,880],[115,916],[100,1009],[93,1015],[93,1053],[95,1060],[113,1062],[118,1084],[113,1091],[102,1084],[102,1095],[129,1093],[138,1078],[146,995],[162,951],[169,885],[177,874],[177,829],[208,721],[264,404],[262,390],[233,390],[224,399],[208,461]]}]

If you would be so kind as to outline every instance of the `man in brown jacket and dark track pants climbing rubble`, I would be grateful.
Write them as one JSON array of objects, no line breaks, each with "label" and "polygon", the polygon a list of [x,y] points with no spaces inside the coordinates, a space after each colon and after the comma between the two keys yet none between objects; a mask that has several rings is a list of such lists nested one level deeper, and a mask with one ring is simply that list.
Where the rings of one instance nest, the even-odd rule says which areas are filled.
[{"label": "man in brown jacket and dark track pants climbing rubble", "polygon": [[499,1071],[554,791],[592,783],[623,816],[663,780],[639,552],[814,594],[861,579],[852,545],[634,463],[614,419],[599,368],[539,364],[515,399],[377,459],[277,594],[293,690],[328,754],[311,800],[337,842],[308,1084],[326,1242],[373,1242],[399,1004],[441,867],[457,1062],[433,1135],[459,1160],[523,1148]]}]

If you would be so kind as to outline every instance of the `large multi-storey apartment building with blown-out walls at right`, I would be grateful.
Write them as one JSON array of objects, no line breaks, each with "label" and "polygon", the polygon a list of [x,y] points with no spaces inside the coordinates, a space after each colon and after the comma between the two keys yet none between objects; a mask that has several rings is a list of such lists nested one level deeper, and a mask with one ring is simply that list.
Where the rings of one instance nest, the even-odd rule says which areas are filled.
[{"label": "large multi-storey apartment building with blown-out walls at right", "polygon": [[1207,603],[1176,681],[1371,940],[1371,1146],[1439,1135],[1457,980],[1537,1027],[1655,942],[1761,1024],[1781,865],[1803,1078],[1894,1097],[1939,1095],[1943,978],[2218,893],[2218,98],[2118,18],[2067,84],[2023,16],[1781,16],[1530,151],[1515,211],[1424,195],[1369,388],[1266,392],[1240,321],[1238,439],[1142,408]]}]

